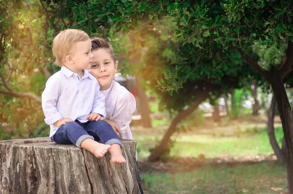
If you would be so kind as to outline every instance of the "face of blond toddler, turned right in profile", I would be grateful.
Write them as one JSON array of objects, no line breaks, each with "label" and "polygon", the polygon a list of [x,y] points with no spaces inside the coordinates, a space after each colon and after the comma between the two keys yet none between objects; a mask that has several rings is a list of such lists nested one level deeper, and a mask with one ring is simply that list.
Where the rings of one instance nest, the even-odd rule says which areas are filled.
[{"label": "face of blond toddler, turned right in profile", "polygon": [[84,69],[90,69],[93,54],[91,53],[91,41],[80,41],[75,44],[75,50],[70,55],[72,63],[70,64],[70,70],[73,72],[81,71]]}]

